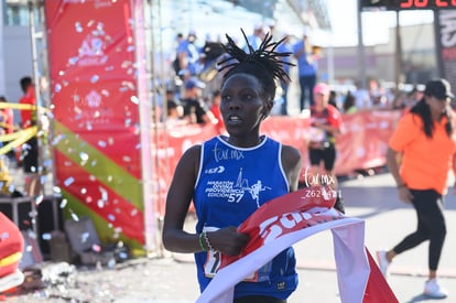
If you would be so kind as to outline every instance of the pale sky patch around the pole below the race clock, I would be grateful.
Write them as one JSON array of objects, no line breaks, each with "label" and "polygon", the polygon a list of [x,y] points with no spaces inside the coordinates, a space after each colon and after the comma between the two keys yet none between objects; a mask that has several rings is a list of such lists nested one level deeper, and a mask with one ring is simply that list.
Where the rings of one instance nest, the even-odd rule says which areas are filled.
[{"label": "pale sky patch around the pole below the race clock", "polygon": [[[326,0],[333,31],[321,36],[319,44],[332,46],[352,46],[358,44],[357,1],[358,0]],[[395,26],[395,12],[378,11],[362,12],[363,42],[366,45],[386,43],[389,39],[389,28]],[[432,11],[401,11],[401,25],[432,23]],[[318,43],[318,42],[316,42]]]}]

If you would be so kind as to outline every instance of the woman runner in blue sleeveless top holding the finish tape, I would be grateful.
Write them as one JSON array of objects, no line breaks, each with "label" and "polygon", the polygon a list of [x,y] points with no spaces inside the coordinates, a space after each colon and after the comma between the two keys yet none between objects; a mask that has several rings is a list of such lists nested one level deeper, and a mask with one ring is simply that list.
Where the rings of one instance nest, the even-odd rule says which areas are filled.
[{"label": "woman runner in blue sleeveless top holding the finish tape", "polygon": [[[227,71],[220,111],[228,136],[209,139],[183,154],[169,190],[162,234],[166,249],[195,253],[202,292],[217,272],[214,266],[227,256],[238,256],[248,244],[249,236],[237,232],[237,227],[264,203],[296,191],[302,166],[297,149],[260,134],[273,107],[275,78],[287,77],[280,54],[271,51],[276,44],[267,34],[258,50],[246,53],[227,39],[226,51],[236,59],[219,63]],[[196,232],[184,231],[192,202]],[[234,302],[286,302],[297,286],[295,267],[290,247],[252,279],[239,282]]]}]

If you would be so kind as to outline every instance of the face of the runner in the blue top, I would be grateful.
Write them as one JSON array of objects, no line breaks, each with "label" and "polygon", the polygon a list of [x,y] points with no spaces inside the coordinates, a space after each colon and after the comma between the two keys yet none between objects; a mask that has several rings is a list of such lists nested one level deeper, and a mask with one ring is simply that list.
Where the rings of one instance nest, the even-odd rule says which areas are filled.
[{"label": "face of the runner in the blue top", "polygon": [[230,136],[259,131],[272,108],[264,96],[260,82],[249,74],[235,74],[224,83],[220,111]]}]

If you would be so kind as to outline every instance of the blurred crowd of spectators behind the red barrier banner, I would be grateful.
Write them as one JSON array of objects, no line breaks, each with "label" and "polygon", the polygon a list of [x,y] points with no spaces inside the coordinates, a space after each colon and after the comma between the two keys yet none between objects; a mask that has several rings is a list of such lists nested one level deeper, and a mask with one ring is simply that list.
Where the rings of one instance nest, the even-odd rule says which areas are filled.
[{"label": "blurred crowd of spectators behind the red barrier banner", "polygon": [[[274,35],[274,26],[256,24],[250,34],[246,35],[246,41],[252,50],[256,50],[264,35]],[[313,45],[312,35],[307,30],[301,36],[290,33],[281,33],[278,39],[282,43],[278,46],[278,52],[290,54],[284,56],[284,72],[296,76],[292,80],[278,79],[278,89],[274,96],[274,107],[271,115],[290,116],[291,112],[301,113],[311,109],[315,105],[313,89],[319,82],[322,75],[318,71],[318,61],[322,59],[322,47]],[[220,73],[218,64],[226,56],[221,44],[225,43],[220,36],[214,39],[210,35],[205,37],[204,43],[196,43],[200,39],[196,31],[189,31],[185,36],[182,33],[176,35],[176,46],[172,58],[169,61],[172,68],[163,80],[165,93],[159,89],[156,101],[156,117],[160,122],[169,122],[170,126],[184,123],[218,123],[221,129],[217,107],[214,106],[215,98],[220,86]],[[248,51],[248,44],[240,42],[241,48]],[[203,46],[197,46],[203,45]],[[291,73],[292,68],[296,73]],[[294,83],[295,94],[290,94],[291,84]],[[193,85],[197,84],[197,85]],[[193,91],[193,106],[188,106],[188,86],[196,86]],[[329,84],[329,104],[340,113],[350,115],[362,110],[384,110],[384,109],[405,109],[411,108],[423,96],[423,87],[415,85],[409,89],[397,89],[387,86],[379,79],[352,79],[343,84]],[[161,97],[161,96],[165,97]],[[199,104],[195,107],[195,105]],[[197,109],[196,121],[191,109]],[[172,111],[173,113],[170,113]],[[204,116],[211,116],[214,119],[202,119]],[[219,118],[219,117],[218,117]]]}]

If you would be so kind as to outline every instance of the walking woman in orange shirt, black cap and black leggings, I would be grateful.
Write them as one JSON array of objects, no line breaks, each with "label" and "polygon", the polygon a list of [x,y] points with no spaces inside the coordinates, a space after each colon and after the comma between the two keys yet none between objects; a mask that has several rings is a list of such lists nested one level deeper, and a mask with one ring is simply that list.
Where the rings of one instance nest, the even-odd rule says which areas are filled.
[{"label": "walking woman in orange shirt, black cap and black leggings", "polygon": [[417,228],[392,249],[377,251],[387,274],[393,258],[428,240],[428,277],[424,294],[444,299],[447,291],[437,280],[446,236],[443,196],[448,171],[456,173],[454,98],[445,79],[430,80],[424,97],[401,118],[389,141],[387,165],[398,186],[399,198],[416,210]]}]

